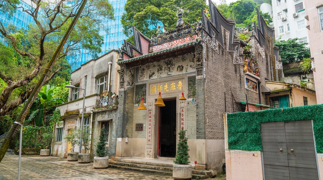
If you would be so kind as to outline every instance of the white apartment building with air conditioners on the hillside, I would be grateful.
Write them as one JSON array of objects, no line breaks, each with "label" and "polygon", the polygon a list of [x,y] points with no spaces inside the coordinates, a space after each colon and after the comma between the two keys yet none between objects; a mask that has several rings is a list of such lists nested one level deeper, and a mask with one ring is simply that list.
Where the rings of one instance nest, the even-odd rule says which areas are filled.
[{"label": "white apartment building with air conditioners on the hillside", "polygon": [[[303,0],[272,0],[275,39],[298,38],[308,43],[307,21]],[[307,45],[309,47],[309,45]]]}]

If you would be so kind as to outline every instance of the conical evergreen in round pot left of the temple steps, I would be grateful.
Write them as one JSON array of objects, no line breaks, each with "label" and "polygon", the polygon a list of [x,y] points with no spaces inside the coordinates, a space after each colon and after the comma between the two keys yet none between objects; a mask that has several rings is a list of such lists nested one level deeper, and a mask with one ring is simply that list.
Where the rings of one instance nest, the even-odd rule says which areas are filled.
[{"label": "conical evergreen in round pot left of the temple steps", "polygon": [[104,126],[101,129],[100,139],[97,144],[96,153],[97,156],[94,156],[93,167],[96,169],[104,169],[109,166],[109,156],[106,156],[105,149],[105,137],[104,137]]}]

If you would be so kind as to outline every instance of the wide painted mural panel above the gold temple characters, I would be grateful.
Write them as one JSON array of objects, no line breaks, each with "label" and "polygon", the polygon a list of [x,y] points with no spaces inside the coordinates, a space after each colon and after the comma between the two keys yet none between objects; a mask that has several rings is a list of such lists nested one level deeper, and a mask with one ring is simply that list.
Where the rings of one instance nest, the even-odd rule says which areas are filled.
[{"label": "wide painted mural panel above the gold temple characters", "polygon": [[[196,67],[195,53],[178,56],[175,58],[168,58],[164,61],[155,62],[148,65],[137,67],[136,81],[154,80],[161,77],[168,77],[172,75],[182,75],[185,73],[195,72]],[[128,73],[129,70],[127,70]],[[128,75],[127,75],[128,82]],[[128,84],[128,83],[127,83]],[[127,85],[128,86],[128,85]]]}]

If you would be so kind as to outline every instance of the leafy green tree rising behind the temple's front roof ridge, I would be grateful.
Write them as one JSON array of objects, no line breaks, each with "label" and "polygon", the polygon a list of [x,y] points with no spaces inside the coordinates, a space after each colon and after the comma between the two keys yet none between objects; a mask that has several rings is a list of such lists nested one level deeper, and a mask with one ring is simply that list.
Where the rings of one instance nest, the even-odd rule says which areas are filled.
[{"label": "leafy green tree rising behind the temple's front roof ridge", "polygon": [[176,12],[180,8],[184,10],[184,23],[193,24],[201,18],[201,9],[206,7],[204,0],[128,0],[121,17],[123,32],[130,37],[133,25],[144,35],[151,37],[156,35],[158,25],[165,30],[173,29],[177,21]]}]

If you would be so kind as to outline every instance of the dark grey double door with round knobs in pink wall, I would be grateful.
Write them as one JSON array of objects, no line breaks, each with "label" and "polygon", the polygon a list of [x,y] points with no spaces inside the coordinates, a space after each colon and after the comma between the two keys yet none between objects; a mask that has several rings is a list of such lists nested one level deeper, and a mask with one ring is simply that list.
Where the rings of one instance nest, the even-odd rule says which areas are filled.
[{"label": "dark grey double door with round knobs in pink wall", "polygon": [[312,121],[261,124],[265,179],[318,179]]}]

